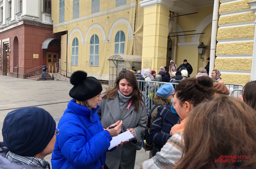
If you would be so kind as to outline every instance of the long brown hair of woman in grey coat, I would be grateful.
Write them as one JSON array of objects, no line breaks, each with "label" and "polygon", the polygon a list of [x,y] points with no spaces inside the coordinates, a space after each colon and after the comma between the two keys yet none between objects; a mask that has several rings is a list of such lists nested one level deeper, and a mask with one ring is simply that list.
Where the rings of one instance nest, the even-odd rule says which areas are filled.
[{"label": "long brown hair of woman in grey coat", "polygon": [[117,92],[119,90],[119,82],[121,79],[126,79],[132,85],[133,91],[132,91],[131,99],[132,99],[132,102],[136,105],[135,111],[138,112],[140,104],[145,105],[145,103],[142,100],[143,95],[141,94],[140,89],[138,87],[136,77],[131,71],[121,70],[119,73],[119,76],[116,79],[115,88],[108,89],[106,92],[104,92],[102,99],[104,98],[113,99],[116,97]]}]

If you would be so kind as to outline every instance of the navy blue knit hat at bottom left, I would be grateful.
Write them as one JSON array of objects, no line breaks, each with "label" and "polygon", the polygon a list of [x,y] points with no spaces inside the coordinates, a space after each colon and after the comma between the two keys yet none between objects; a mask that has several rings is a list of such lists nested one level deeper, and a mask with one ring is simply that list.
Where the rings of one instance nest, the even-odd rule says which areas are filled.
[{"label": "navy blue knit hat at bottom left", "polygon": [[55,128],[52,116],[42,108],[16,109],[4,118],[4,144],[14,154],[33,157],[49,144]]}]

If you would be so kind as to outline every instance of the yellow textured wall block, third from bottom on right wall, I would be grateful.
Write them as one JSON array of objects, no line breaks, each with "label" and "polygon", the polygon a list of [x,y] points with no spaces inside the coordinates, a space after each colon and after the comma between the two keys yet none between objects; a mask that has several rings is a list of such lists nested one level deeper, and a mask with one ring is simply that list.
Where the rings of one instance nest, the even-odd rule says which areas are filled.
[{"label": "yellow textured wall block, third from bottom on right wall", "polygon": [[252,54],[253,42],[222,43],[216,46],[216,55]]}]

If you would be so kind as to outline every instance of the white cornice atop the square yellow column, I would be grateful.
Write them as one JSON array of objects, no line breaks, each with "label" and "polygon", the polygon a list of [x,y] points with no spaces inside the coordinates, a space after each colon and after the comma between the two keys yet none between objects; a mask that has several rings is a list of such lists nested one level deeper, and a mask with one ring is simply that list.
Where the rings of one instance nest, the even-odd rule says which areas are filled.
[{"label": "white cornice atop the square yellow column", "polygon": [[161,5],[166,8],[171,8],[176,0],[143,0],[140,1],[140,6],[143,8],[155,5]]}]

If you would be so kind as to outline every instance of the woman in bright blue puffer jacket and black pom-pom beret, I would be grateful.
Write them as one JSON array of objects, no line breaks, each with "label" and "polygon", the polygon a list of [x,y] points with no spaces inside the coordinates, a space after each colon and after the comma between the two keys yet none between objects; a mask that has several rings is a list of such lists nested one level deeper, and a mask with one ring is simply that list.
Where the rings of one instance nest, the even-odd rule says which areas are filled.
[{"label": "woman in bright blue puffer jacket and black pom-pom beret", "polygon": [[58,129],[63,132],[56,138],[52,168],[103,168],[111,136],[119,134],[122,121],[112,124],[117,125],[113,129],[103,129],[97,114],[102,86],[96,78],[87,77],[84,71],[76,71],[71,75],[70,83],[74,87],[69,95],[74,99],[68,103],[58,123]]}]

